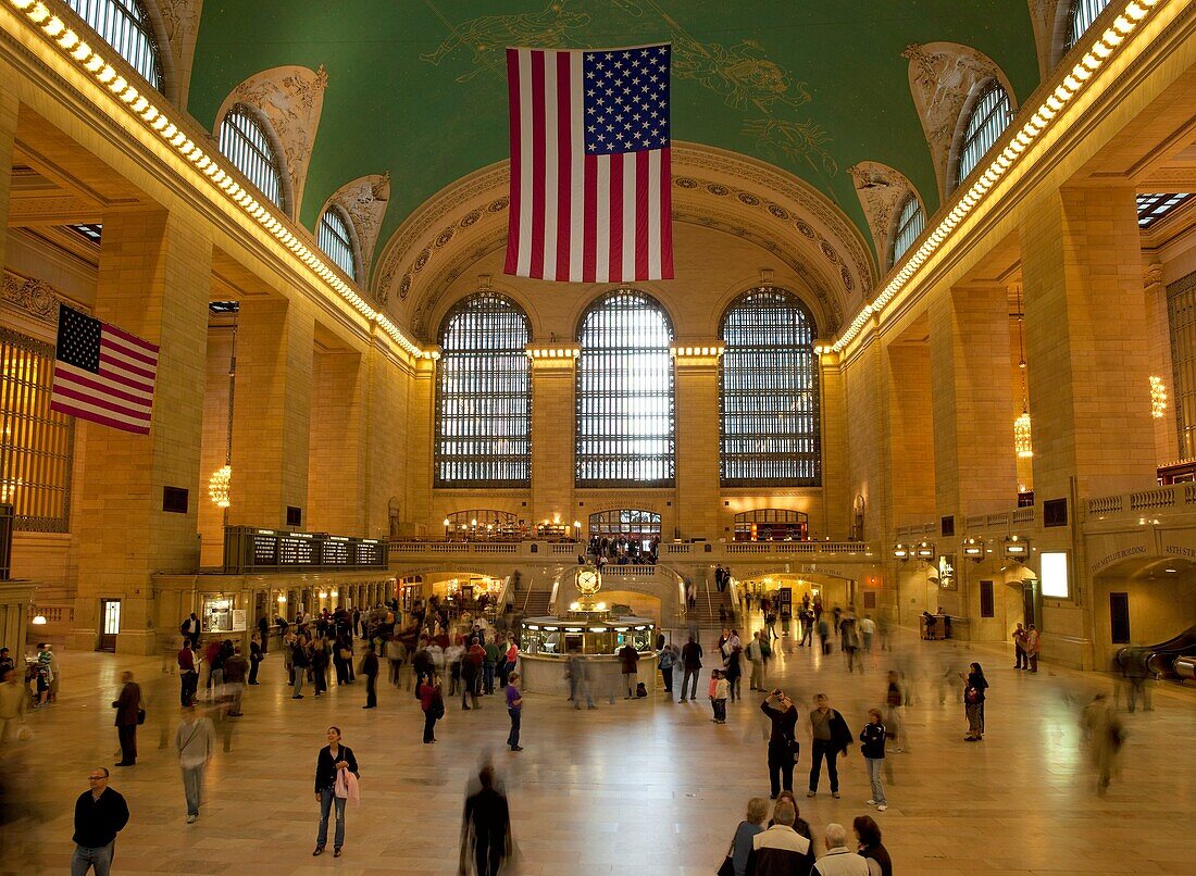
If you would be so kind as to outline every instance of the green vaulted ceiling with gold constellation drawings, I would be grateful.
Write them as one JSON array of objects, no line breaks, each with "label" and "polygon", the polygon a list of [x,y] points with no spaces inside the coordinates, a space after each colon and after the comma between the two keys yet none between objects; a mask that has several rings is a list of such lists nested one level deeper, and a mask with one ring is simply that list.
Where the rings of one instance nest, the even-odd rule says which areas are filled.
[{"label": "green vaulted ceiling with gold constellation drawings", "polygon": [[847,169],[891,165],[938,208],[902,51],[988,55],[1020,104],[1038,84],[1025,0],[206,0],[189,110],[209,129],[260,71],[328,71],[300,216],[390,171],[380,243],[462,176],[507,157],[504,48],[673,43],[672,134],[761,158],[871,239]]}]

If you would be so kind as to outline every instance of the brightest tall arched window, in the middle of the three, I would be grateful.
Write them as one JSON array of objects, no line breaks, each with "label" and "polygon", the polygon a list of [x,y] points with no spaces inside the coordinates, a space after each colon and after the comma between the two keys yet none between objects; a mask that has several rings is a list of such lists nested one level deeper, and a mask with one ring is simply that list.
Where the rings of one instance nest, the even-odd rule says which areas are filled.
[{"label": "brightest tall arched window, in the middle of the three", "polygon": [[672,325],[641,292],[596,301],[578,332],[578,486],[673,483]]}]

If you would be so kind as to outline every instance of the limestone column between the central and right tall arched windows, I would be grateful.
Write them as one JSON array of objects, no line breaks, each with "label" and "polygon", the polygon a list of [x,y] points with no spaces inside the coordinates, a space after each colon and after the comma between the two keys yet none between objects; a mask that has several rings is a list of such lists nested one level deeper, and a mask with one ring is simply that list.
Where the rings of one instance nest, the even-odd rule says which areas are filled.
[{"label": "limestone column between the central and right tall arched windows", "polygon": [[677,528],[682,538],[719,539],[719,355],[715,344],[673,344]]}]

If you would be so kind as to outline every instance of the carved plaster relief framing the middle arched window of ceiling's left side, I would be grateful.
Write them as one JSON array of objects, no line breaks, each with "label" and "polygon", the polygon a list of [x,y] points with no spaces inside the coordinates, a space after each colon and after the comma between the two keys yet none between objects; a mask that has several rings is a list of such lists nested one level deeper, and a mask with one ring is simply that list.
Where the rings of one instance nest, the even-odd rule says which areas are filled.
[{"label": "carved plaster relief framing the middle arched window of ceiling's left side", "polygon": [[262,71],[232,90],[225,98],[216,124],[233,104],[248,104],[266,116],[282,147],[283,172],[291,180],[291,215],[301,214],[303,190],[307,180],[307,163],[319,129],[324,108],[328,71],[306,67],[275,67]]}]

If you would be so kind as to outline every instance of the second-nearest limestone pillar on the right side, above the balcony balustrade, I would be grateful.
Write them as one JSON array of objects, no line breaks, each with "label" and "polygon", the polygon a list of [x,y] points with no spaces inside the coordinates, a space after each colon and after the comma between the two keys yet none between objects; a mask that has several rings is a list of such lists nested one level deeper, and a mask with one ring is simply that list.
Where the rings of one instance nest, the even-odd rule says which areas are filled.
[{"label": "second-nearest limestone pillar on the right side, above the balcony balustrade", "polygon": [[1008,292],[956,287],[929,308],[938,517],[1018,504],[1009,381]]}]

